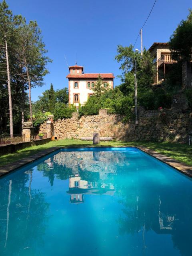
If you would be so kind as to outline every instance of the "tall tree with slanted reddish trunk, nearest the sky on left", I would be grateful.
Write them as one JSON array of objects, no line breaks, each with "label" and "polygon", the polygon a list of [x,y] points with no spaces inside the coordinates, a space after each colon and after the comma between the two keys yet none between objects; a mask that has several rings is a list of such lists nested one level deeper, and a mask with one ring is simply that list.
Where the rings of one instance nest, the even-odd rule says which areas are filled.
[{"label": "tall tree with slanted reddish trunk, nearest the sky on left", "polygon": [[26,24],[25,18],[21,18],[18,28],[18,58],[26,75],[23,79],[28,81],[30,120],[32,121],[31,88],[43,85],[43,77],[48,74],[46,64],[51,62],[46,56],[45,44],[42,42],[41,30],[36,21]]}]

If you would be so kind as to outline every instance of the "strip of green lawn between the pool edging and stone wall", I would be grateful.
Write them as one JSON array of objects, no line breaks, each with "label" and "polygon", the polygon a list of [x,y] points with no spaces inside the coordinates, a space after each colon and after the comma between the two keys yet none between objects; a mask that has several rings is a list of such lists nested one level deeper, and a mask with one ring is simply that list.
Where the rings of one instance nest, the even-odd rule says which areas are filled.
[{"label": "strip of green lawn between the pool edging and stone wall", "polygon": [[[92,142],[82,141],[82,140],[58,140],[48,142],[44,145],[33,146],[29,148],[24,148],[18,150],[13,154],[7,154],[0,156],[0,166],[6,165],[8,163],[14,162],[16,160],[22,159],[27,156],[31,156],[40,150],[50,148],[53,146],[90,146]],[[187,144],[169,143],[169,142],[100,142],[99,146],[146,146],[152,150],[156,150],[161,154],[170,156],[180,162],[186,163],[192,166],[192,146]]]}]

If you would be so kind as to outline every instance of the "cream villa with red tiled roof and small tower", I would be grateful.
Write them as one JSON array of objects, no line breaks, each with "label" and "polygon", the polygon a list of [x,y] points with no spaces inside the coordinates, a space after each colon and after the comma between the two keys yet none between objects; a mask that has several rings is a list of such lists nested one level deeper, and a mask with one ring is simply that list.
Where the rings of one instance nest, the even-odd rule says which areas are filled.
[{"label": "cream villa with red tiled roof and small tower", "polygon": [[[79,104],[84,105],[88,98],[93,95],[94,84],[97,81],[99,73],[83,72],[83,66],[70,66],[66,76],[69,80],[69,104],[74,104],[78,108]],[[113,89],[113,73],[100,73],[103,78],[104,86],[109,84],[110,89]]]}]

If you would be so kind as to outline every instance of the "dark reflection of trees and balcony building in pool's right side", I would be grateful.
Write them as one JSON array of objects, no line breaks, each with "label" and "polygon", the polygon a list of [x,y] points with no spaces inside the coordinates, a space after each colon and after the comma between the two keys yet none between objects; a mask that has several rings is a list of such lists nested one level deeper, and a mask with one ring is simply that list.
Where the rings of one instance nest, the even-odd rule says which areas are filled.
[{"label": "dark reflection of trees and balcony building in pool's right side", "polygon": [[145,186],[137,189],[134,185],[127,186],[123,180],[115,186],[121,197],[118,202],[124,206],[117,220],[120,234],[141,232],[143,250],[147,246],[144,232],[153,230],[160,235],[171,234],[180,254],[191,255],[192,196],[185,194],[184,187],[177,191],[181,196],[177,198],[175,188],[171,186],[162,186],[158,190],[146,190]]}]

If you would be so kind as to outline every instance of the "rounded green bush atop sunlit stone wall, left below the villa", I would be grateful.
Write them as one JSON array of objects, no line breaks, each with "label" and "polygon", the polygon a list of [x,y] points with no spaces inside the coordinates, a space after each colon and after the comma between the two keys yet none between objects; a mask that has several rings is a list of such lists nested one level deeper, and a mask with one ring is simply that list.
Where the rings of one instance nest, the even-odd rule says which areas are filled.
[{"label": "rounded green bush atop sunlit stone wall, left below the villa", "polygon": [[56,103],[54,110],[54,120],[71,118],[72,113],[77,112],[74,105],[66,106],[64,103]]}]

